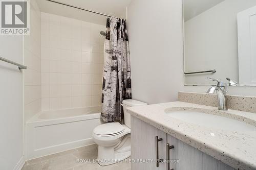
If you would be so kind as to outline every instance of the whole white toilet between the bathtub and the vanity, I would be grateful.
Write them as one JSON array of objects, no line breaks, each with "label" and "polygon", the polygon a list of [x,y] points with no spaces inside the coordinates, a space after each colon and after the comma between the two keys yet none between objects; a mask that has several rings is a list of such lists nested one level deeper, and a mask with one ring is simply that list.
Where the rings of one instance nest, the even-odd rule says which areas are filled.
[{"label": "whole white toilet between the bathtub and the vanity", "polygon": [[93,139],[98,144],[98,163],[110,165],[131,156],[131,115],[127,107],[147,105],[136,100],[124,100],[124,124],[108,123],[93,130]]}]

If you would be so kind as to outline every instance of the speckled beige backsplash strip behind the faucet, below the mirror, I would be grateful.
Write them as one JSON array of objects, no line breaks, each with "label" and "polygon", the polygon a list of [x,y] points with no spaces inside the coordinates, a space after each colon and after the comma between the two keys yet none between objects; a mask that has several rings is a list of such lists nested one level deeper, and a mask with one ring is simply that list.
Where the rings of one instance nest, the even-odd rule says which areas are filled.
[{"label": "speckled beige backsplash strip behind the faucet, below the mirror", "polygon": [[[179,92],[179,101],[218,107],[216,94]],[[256,113],[256,97],[227,95],[228,109]]]}]

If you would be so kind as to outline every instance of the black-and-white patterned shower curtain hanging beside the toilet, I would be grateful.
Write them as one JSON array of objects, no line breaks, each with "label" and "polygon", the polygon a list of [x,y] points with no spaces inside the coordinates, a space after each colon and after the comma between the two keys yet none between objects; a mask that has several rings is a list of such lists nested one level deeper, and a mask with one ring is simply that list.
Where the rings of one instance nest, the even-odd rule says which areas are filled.
[{"label": "black-and-white patterned shower curtain hanging beside the toilet", "polygon": [[101,118],[123,119],[122,101],[132,99],[129,42],[125,19],[108,18],[104,44]]}]

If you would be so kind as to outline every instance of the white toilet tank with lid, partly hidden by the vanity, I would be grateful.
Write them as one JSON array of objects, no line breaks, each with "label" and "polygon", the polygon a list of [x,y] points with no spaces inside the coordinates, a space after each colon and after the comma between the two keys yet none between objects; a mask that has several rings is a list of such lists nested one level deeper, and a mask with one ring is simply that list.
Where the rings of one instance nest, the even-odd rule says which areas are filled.
[{"label": "white toilet tank with lid, partly hidden by the vanity", "polygon": [[136,101],[133,99],[123,100],[124,124],[127,127],[131,128],[131,114],[127,113],[126,108],[133,107],[133,106],[143,106],[143,105],[147,105],[147,103]]}]

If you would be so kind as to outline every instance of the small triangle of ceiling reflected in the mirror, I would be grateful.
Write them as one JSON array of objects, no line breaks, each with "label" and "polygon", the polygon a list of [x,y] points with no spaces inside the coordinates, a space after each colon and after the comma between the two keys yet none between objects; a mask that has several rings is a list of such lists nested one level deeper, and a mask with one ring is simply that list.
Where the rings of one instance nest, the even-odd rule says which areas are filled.
[{"label": "small triangle of ceiling reflected in the mirror", "polygon": [[184,0],[184,21],[194,18],[223,1],[225,0]]}]

